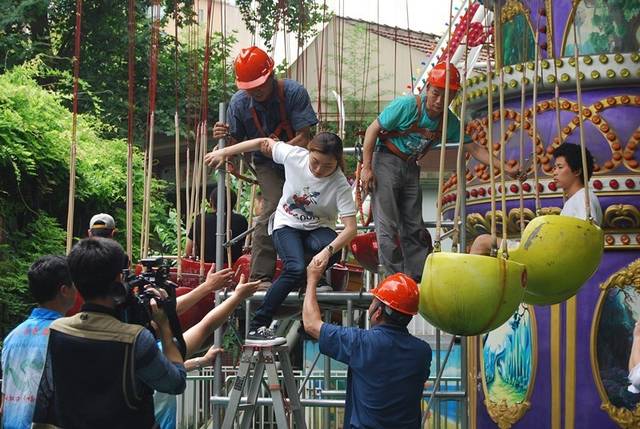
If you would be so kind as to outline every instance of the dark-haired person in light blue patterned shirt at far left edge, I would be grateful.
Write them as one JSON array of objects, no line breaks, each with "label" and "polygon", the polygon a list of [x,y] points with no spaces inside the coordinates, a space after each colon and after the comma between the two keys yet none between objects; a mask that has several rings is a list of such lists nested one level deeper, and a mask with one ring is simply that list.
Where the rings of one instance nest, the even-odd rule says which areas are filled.
[{"label": "dark-haired person in light blue patterned shirt at far left edge", "polygon": [[2,427],[28,429],[42,377],[49,325],[73,306],[73,287],[64,256],[47,255],[29,268],[29,291],[38,303],[29,318],[7,335],[2,347]]}]

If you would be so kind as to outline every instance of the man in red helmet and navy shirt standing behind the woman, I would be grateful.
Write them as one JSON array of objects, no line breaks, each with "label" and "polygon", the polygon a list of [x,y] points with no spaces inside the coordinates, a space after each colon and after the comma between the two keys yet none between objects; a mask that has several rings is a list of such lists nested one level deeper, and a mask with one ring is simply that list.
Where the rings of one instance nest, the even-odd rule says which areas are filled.
[{"label": "man in red helmet and navy shirt standing behind the woman", "polygon": [[[227,109],[227,123],[213,127],[213,138],[229,138],[229,144],[272,137],[306,147],[309,128],[318,123],[307,90],[290,79],[276,79],[273,59],[262,49],[242,49],[235,59],[236,92]],[[251,249],[251,280],[273,278],[276,251],[267,232],[269,217],[276,210],[284,186],[284,170],[271,158],[253,153],[253,164],[263,197],[262,213],[256,220]]]}]

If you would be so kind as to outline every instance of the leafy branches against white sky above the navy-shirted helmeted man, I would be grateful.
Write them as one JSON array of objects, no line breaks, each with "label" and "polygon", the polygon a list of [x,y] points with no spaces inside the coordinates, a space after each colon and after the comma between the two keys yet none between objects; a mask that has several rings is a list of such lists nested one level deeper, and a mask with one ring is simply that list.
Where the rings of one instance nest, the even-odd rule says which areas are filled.
[{"label": "leafy branches against white sky above the navy-shirted helmeted man", "polygon": [[326,4],[314,0],[236,0],[236,5],[249,31],[256,33],[259,28],[258,34],[268,49],[273,47],[278,31],[296,34],[298,44],[303,45],[316,34],[316,24],[328,22],[332,17]]}]

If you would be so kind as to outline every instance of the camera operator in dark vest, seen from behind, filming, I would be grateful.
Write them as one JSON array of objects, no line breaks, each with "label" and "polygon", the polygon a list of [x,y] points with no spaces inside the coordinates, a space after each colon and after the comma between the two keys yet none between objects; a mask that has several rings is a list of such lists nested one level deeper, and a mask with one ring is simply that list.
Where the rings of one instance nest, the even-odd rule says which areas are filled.
[{"label": "camera operator in dark vest, seen from behind, filming", "polygon": [[85,304],[51,324],[34,428],[156,428],[153,390],[184,391],[183,359],[160,300],[150,303],[162,351],[149,330],[118,320],[124,258],[122,247],[105,238],[81,240],[69,253],[71,278]]}]

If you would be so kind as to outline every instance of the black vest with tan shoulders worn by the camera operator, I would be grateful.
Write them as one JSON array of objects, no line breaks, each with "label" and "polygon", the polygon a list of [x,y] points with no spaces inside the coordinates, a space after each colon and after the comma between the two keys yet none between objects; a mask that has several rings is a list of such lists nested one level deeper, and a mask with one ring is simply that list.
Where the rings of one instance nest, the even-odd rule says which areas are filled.
[{"label": "black vest with tan shoulders worn by the camera operator", "polygon": [[50,326],[56,426],[64,429],[156,428],[153,390],[135,384],[138,325],[84,311]]}]

